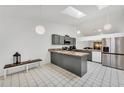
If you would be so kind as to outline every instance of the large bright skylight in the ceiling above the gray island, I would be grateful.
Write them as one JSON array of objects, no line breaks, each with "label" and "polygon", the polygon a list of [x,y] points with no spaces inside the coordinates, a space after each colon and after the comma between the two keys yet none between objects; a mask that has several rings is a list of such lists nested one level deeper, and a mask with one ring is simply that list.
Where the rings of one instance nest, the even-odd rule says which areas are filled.
[{"label": "large bright skylight in the ceiling above the gray island", "polygon": [[66,15],[69,15],[69,16],[72,16],[72,17],[75,17],[75,18],[82,18],[84,16],[86,16],[85,13],[79,11],[78,9],[74,8],[74,7],[67,7],[66,9],[64,9],[62,11],[63,14],[66,14]]}]

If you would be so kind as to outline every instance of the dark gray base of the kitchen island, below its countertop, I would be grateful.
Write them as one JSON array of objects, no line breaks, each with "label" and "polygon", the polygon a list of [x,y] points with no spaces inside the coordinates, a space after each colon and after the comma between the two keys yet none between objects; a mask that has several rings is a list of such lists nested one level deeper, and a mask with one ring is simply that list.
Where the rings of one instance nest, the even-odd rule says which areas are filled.
[{"label": "dark gray base of the kitchen island, below its countertop", "polygon": [[51,63],[58,65],[80,77],[87,72],[87,55],[78,57],[51,52]]}]

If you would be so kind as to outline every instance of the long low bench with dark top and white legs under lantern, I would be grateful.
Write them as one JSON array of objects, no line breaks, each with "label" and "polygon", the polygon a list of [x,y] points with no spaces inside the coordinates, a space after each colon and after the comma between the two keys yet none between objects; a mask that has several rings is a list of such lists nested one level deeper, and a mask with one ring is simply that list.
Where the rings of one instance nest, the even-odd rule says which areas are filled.
[{"label": "long low bench with dark top and white legs under lantern", "polygon": [[25,66],[26,68],[26,72],[28,72],[28,66],[32,63],[39,63],[39,66],[40,66],[40,62],[42,60],[41,59],[34,59],[34,60],[28,60],[28,61],[23,61],[23,62],[20,62],[19,64],[7,64],[4,66],[4,79],[6,79],[6,76],[7,76],[7,70],[10,69],[10,68],[13,68],[13,67],[19,67],[19,66]]}]

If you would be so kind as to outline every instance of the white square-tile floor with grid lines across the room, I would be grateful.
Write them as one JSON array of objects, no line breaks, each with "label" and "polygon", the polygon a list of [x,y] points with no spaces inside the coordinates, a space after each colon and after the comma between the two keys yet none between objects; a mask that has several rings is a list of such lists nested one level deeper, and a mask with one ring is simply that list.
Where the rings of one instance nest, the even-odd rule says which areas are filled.
[{"label": "white square-tile floor with grid lines across the room", "polygon": [[0,78],[1,87],[123,87],[124,71],[88,62],[88,72],[78,77],[56,65],[44,64],[40,68]]}]

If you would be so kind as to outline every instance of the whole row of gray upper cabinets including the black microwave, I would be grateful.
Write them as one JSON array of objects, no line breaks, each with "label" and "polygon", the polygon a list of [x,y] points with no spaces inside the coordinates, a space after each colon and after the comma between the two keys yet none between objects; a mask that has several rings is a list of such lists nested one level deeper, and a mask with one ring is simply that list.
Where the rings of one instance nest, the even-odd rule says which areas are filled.
[{"label": "whole row of gray upper cabinets including the black microwave", "polygon": [[52,44],[53,45],[75,45],[76,38],[52,34]]}]

